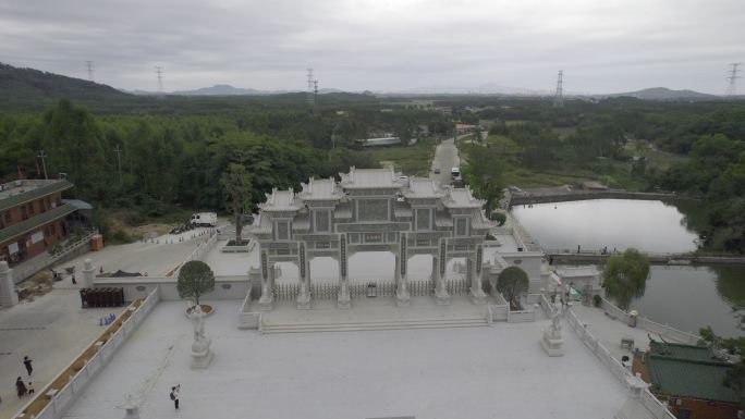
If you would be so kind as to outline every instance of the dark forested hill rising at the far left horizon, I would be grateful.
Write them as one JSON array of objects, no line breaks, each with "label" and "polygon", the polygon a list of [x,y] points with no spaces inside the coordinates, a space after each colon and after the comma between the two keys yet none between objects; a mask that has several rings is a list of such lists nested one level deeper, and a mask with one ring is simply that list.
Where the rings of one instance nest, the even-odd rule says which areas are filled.
[{"label": "dark forested hill rising at the far left horizon", "polygon": [[131,97],[111,86],[0,63],[0,109],[45,109],[62,98],[90,104]]}]

